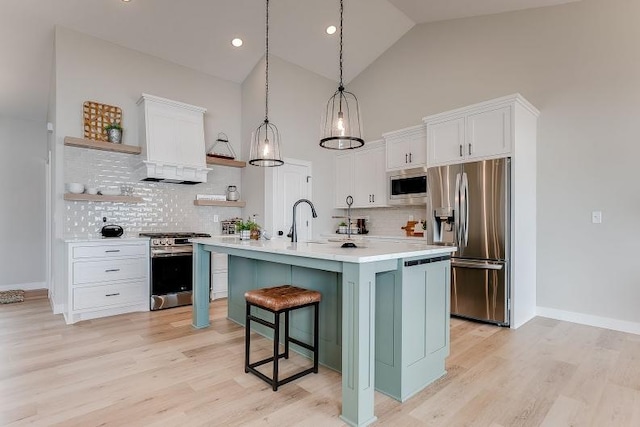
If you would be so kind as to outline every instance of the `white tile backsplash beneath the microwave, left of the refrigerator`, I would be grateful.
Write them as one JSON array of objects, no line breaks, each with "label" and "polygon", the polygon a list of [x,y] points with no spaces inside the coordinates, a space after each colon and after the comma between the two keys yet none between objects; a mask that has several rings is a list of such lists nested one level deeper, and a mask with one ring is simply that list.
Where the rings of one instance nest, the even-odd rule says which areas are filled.
[{"label": "white tile backsplash beneath the microwave, left of the refrigerator", "polygon": [[[345,211],[346,214],[346,211]],[[426,206],[401,206],[392,208],[368,208],[352,209],[353,217],[368,217],[367,229],[374,236],[406,236],[401,228],[407,225],[409,217],[413,215],[414,221],[425,221],[427,218]],[[339,220],[337,220],[339,222]],[[336,222],[336,228],[337,224]]]}]

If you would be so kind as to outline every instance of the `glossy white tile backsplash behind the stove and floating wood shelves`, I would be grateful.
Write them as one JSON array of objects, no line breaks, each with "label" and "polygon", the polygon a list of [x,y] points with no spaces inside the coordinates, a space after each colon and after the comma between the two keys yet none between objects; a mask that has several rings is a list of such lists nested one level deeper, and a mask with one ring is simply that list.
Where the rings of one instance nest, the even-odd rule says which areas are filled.
[{"label": "glossy white tile backsplash behind the stove and floating wood shelves", "polygon": [[220,223],[213,222],[214,215],[222,220],[242,214],[241,208],[193,204],[196,194],[225,194],[229,185],[238,187],[242,199],[240,169],[211,166],[207,183],[183,185],[140,181],[141,166],[140,156],[65,146],[65,183],[79,182],[99,190],[130,185],[133,195],[143,199],[142,203],[66,201],[65,237],[99,236],[103,216],[107,223],[121,225],[128,236],[141,231],[220,234]]}]

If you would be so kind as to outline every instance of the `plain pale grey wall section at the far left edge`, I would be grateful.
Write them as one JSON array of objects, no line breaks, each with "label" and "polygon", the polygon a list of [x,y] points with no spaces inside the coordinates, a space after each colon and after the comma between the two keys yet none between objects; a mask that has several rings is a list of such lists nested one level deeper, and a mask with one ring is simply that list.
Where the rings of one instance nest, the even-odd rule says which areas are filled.
[{"label": "plain pale grey wall section at the far left edge", "polygon": [[0,290],[44,288],[46,124],[0,117],[0,146]]}]

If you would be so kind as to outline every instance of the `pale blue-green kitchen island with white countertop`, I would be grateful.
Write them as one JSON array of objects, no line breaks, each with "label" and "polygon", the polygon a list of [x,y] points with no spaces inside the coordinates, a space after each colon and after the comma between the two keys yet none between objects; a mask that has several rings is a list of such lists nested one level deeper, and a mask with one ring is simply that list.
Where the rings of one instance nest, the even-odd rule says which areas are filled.
[{"label": "pale blue-green kitchen island with white countertop", "polygon": [[[209,252],[229,255],[228,317],[244,324],[244,292],[291,283],[318,290],[320,363],[342,372],[341,418],[376,420],[374,390],[405,401],[445,374],[454,247],[362,241],[194,239],[193,326],[209,326]],[[297,314],[297,313],[296,313]],[[292,316],[309,339],[309,313]],[[259,331],[261,332],[261,331]]]}]

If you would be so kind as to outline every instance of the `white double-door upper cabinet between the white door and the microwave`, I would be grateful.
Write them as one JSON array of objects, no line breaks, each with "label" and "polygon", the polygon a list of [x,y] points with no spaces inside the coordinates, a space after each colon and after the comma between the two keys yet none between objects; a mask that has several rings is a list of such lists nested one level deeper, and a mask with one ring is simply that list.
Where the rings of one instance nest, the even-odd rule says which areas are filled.
[{"label": "white double-door upper cabinet between the white door and the microwave", "polygon": [[384,141],[336,156],[336,208],[347,207],[347,196],[353,208],[387,206],[386,182]]}]

